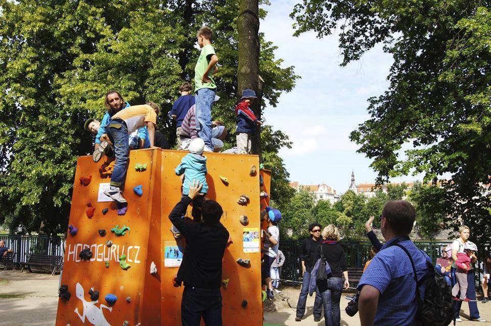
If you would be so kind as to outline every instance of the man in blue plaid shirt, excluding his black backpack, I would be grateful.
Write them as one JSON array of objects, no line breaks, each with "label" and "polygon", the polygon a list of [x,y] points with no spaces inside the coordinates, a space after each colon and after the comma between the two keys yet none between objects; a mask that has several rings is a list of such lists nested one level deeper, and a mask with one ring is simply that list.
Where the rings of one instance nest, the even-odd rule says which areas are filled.
[{"label": "man in blue plaid shirt, excluding his black backpack", "polygon": [[[428,272],[430,257],[409,239],[416,218],[414,207],[406,201],[389,201],[382,211],[381,231],[386,244],[373,257],[363,273],[359,312],[361,325],[416,325],[417,300],[414,272],[404,246],[411,255],[418,281]],[[421,299],[425,287],[419,287]]]}]

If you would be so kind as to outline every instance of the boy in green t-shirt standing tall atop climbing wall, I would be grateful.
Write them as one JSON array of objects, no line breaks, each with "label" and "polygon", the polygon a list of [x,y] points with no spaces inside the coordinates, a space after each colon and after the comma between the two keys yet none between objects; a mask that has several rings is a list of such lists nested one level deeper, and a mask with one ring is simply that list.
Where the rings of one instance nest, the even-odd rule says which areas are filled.
[{"label": "boy in green t-shirt standing tall atop climbing wall", "polygon": [[213,31],[202,27],[197,33],[198,45],[201,48],[196,67],[194,68],[194,84],[196,97],[196,129],[199,138],[205,142],[205,151],[213,151],[211,142],[211,106],[215,99],[216,85],[212,75],[218,71],[218,57],[211,45]]}]

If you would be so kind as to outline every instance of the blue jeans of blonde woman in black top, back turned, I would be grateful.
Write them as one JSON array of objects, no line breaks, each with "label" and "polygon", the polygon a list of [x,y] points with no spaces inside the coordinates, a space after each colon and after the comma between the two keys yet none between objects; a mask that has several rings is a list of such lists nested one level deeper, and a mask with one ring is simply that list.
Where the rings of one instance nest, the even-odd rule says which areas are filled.
[{"label": "blue jeans of blonde woman in black top, back turned", "polygon": [[341,300],[341,292],[343,291],[343,278],[328,278],[319,287],[324,290],[321,292],[321,297],[326,326],[339,326],[341,322],[339,301]]}]

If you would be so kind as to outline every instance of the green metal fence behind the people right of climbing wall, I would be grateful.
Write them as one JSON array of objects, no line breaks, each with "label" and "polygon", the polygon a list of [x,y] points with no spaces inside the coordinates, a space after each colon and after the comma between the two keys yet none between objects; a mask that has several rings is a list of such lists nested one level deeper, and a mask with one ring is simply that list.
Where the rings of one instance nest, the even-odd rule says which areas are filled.
[{"label": "green metal fence behind the people right of climbing wall", "polygon": [[[433,263],[436,258],[441,256],[442,249],[451,243],[451,241],[417,241],[414,242],[422,251],[426,252]],[[346,253],[346,264],[348,267],[363,268],[368,259],[370,259],[370,248],[372,245],[369,242],[341,242]],[[293,281],[301,280],[301,265],[300,265],[300,242],[299,241],[280,241],[279,249],[285,255],[285,263],[281,271],[281,278]],[[474,272],[476,279],[476,291],[480,292],[482,278],[482,262],[483,258],[491,253],[491,244],[485,244],[479,248],[478,262],[474,264]]]}]

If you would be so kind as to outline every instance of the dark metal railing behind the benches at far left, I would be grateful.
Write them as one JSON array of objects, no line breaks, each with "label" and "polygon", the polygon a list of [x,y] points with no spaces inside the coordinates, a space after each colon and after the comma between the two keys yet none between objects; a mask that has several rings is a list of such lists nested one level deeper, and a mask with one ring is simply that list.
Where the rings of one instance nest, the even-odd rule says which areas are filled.
[{"label": "dark metal railing behind the benches at far left", "polygon": [[42,235],[0,235],[0,240],[5,241],[5,246],[14,251],[14,264],[27,262],[31,253],[45,255],[63,255],[61,238]]}]

